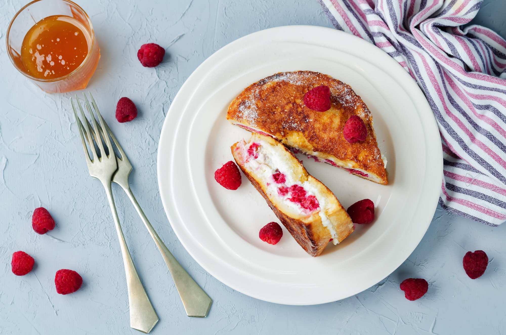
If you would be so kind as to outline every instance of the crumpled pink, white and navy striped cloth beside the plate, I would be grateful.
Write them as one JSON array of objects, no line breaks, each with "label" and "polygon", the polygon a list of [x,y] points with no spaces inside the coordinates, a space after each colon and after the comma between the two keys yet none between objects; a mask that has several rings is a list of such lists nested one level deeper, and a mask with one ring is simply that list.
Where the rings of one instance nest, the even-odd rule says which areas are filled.
[{"label": "crumpled pink, white and navy striped cloth beside the plate", "polygon": [[392,56],[424,91],[439,125],[440,205],[506,220],[506,41],[471,25],[483,0],[318,0],[336,29]]}]

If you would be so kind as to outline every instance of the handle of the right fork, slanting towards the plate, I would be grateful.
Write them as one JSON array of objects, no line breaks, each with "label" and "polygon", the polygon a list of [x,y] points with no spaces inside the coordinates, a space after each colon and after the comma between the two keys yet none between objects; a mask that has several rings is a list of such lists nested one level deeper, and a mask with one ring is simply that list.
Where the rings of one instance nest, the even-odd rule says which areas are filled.
[{"label": "handle of the right fork, slanting towards the plate", "polygon": [[185,307],[186,315],[193,317],[206,317],[213,300],[204,292],[202,288],[193,280],[192,277],[186,272],[185,269],[179,264],[174,255],[167,249],[163,241],[160,239],[156,231],[154,230],[148,218],[142,211],[141,206],[137,202],[134,194],[130,187],[123,187],[126,194],[130,198],[130,201],[134,204],[134,207],[144,222],[144,225],[149,231],[149,234],[155,241],[161,256],[165,260],[165,264],[168,267],[168,271],[171,272],[172,279],[176,284],[179,296]]}]

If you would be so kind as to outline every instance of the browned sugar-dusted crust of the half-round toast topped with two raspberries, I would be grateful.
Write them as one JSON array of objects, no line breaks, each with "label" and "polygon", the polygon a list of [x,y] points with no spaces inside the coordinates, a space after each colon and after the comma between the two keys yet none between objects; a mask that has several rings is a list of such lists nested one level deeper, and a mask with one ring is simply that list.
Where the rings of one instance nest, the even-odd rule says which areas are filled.
[{"label": "browned sugar-dusted crust of the half-round toast topped with two raspberries", "polygon": [[[332,95],[332,107],[326,112],[304,105],[306,92],[320,85],[328,86]],[[343,136],[344,124],[353,115],[359,116],[367,128],[363,142],[348,143]],[[371,112],[350,86],[329,75],[296,71],[266,77],[248,86],[232,101],[227,119],[322,160],[330,159],[343,168],[363,170],[375,176],[366,179],[388,184]]]}]

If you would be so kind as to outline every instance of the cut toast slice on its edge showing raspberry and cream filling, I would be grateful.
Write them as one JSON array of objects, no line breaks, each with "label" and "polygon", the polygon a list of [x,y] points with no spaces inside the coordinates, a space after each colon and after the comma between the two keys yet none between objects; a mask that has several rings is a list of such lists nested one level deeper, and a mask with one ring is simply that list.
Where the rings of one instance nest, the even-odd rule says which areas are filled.
[{"label": "cut toast slice on its edge showing raspberry and cream filling", "polygon": [[331,239],[337,244],[353,232],[339,200],[283,144],[253,133],[231,150],[244,175],[309,255],[320,255]]}]

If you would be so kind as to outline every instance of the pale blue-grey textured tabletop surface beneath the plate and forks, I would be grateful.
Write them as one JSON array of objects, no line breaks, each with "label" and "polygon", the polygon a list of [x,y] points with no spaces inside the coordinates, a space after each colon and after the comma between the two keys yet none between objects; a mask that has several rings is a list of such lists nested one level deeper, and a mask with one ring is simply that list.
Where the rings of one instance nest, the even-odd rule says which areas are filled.
[{"label": "pale blue-grey textured tabletop surface beneath the plate and forks", "polygon": [[[230,41],[287,24],[330,26],[316,1],[81,1],[102,50],[89,90],[135,165],[132,188],[153,226],[195,280],[214,299],[205,319],[188,318],[162,258],[133,207],[114,187],[134,261],[160,317],[153,334],[343,333],[491,334],[506,329],[506,227],[491,228],[438,209],[409,259],[356,297],[318,306],[283,306],[249,298],[208,275],[188,255],[167,222],[158,196],[156,149],[164,112],[190,73]],[[7,24],[24,4],[0,4],[0,45]],[[485,2],[480,22],[502,32],[504,2]],[[494,7],[495,6],[495,7]],[[488,13],[488,14],[487,14]],[[490,20],[488,19],[490,18]],[[167,47],[154,69],[137,58],[147,41]],[[87,173],[70,94],[48,95],[28,82],[0,48],[0,333],[127,334],[128,299],[119,246],[102,186]],[[139,117],[115,122],[116,101],[128,96]],[[47,207],[56,229],[35,234],[35,207]],[[490,263],[471,280],[461,260],[483,249]],[[11,255],[24,250],[34,271],[17,277]],[[78,271],[82,288],[56,294],[56,270]],[[408,277],[429,281],[427,295],[410,302],[399,290]]]}]

